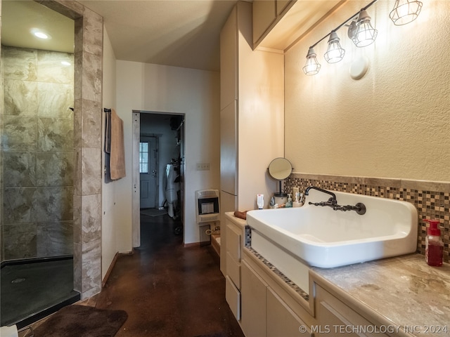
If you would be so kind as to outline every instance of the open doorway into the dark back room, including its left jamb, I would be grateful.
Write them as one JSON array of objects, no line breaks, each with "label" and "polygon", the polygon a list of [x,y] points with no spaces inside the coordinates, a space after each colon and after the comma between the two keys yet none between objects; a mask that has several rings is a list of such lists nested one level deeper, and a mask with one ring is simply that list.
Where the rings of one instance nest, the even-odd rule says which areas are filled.
[{"label": "open doorway into the dark back room, including its left jamb", "polygon": [[[133,111],[133,246],[141,245],[141,213],[183,223],[184,114]],[[183,232],[178,228],[174,234]]]}]

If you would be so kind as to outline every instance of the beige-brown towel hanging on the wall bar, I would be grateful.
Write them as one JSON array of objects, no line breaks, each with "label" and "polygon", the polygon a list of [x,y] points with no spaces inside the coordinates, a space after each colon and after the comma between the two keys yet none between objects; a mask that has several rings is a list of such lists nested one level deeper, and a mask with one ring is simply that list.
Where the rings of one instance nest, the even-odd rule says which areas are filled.
[{"label": "beige-brown towel hanging on the wall bar", "polygon": [[111,158],[110,175],[112,180],[125,176],[124,121],[111,110]]}]

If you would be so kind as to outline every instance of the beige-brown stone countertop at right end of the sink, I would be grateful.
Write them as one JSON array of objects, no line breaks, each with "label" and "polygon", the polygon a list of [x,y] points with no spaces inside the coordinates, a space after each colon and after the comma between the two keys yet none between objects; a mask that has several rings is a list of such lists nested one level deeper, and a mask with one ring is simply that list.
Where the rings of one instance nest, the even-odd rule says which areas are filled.
[{"label": "beige-brown stone countertop at right end of the sink", "polygon": [[311,271],[416,336],[450,336],[450,265],[420,254]]}]

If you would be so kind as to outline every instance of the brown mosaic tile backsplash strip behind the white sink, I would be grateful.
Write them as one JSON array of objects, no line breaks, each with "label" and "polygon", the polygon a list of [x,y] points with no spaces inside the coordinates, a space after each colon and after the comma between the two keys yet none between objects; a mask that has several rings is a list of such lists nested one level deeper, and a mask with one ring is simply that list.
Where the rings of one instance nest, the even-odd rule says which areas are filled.
[{"label": "brown mosaic tile backsplash strip behind the white sink", "polygon": [[450,234],[450,183],[430,183],[416,180],[396,180],[378,178],[360,178],[343,176],[318,176],[293,173],[284,182],[284,191],[292,193],[293,187],[300,192],[308,186],[326,190],[364,194],[408,201],[418,211],[417,252],[425,255],[425,237],[427,224],[423,219],[439,219],[441,236],[444,241],[444,262],[449,263]]}]

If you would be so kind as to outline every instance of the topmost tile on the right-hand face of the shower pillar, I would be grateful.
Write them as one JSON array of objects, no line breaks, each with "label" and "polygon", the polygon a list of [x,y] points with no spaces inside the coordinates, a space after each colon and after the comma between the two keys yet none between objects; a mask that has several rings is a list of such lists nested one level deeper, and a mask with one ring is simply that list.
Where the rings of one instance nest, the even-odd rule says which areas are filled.
[{"label": "topmost tile on the right-hand face of the shower pillar", "polygon": [[103,18],[89,8],[85,8],[83,19],[84,51],[97,56],[102,55]]}]

